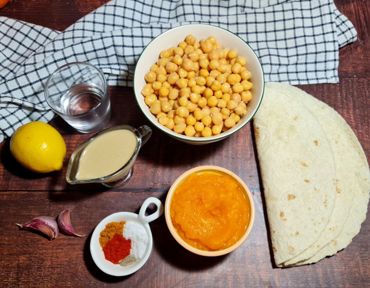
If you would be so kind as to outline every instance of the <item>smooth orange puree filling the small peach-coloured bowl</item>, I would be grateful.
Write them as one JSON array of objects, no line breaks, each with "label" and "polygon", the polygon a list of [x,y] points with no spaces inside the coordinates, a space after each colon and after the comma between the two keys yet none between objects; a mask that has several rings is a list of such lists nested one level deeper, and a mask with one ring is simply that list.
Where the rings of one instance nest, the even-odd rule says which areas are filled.
[{"label": "smooth orange puree filling the small peach-coloured bowl", "polygon": [[192,247],[215,251],[234,245],[250,221],[246,191],[220,171],[189,175],[172,195],[170,215],[179,236]]}]

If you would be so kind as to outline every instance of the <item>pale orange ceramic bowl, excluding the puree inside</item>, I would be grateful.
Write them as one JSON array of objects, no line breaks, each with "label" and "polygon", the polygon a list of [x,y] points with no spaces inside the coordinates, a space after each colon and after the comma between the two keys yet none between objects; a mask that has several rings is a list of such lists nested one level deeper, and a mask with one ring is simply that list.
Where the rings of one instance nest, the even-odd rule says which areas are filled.
[{"label": "pale orange ceramic bowl, excluding the puree inside", "polygon": [[[192,174],[194,172],[198,172],[198,171],[203,171],[203,170],[216,170],[216,171],[221,171],[223,173],[231,175],[233,178],[236,179],[236,181],[238,181],[240,183],[240,185],[242,185],[242,187],[246,191],[246,194],[248,195],[248,199],[249,199],[249,202],[250,202],[250,213],[251,213],[251,215],[250,215],[250,221],[249,221],[249,225],[248,225],[247,230],[245,231],[244,235],[242,236],[242,238],[239,239],[238,242],[236,242],[234,245],[232,245],[232,246],[230,246],[226,249],[223,249],[223,250],[204,251],[204,250],[200,250],[198,248],[194,248],[191,245],[189,245],[188,243],[186,243],[184,240],[182,240],[182,238],[179,236],[179,234],[177,234],[177,232],[175,230],[175,227],[172,224],[171,216],[170,216],[170,213],[169,213],[169,210],[170,210],[170,207],[171,207],[172,195],[174,194],[177,186],[186,177],[188,177],[190,174]],[[220,255],[228,254],[231,251],[235,250],[240,245],[242,245],[243,242],[248,238],[248,236],[250,234],[250,231],[252,231],[252,227],[253,227],[254,220],[255,220],[255,205],[254,205],[254,202],[253,202],[252,194],[250,193],[247,185],[245,185],[243,180],[241,180],[237,175],[235,175],[233,172],[231,172],[231,171],[229,171],[225,168],[222,168],[222,167],[206,165],[206,166],[199,166],[199,167],[192,168],[192,169],[186,171],[184,174],[182,174],[179,178],[176,179],[176,181],[172,184],[171,188],[169,188],[167,198],[166,198],[166,202],[165,202],[164,214],[165,214],[166,223],[167,223],[169,231],[171,232],[171,234],[175,238],[175,240],[182,247],[184,247],[186,250],[189,250],[190,252],[193,252],[195,254],[202,255],[202,256],[220,256]]]}]

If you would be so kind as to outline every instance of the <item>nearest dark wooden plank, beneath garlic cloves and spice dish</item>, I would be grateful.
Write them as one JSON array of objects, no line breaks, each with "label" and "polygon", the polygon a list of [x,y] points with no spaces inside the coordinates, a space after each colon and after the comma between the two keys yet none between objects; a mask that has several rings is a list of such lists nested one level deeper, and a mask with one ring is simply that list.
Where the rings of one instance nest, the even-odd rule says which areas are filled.
[{"label": "nearest dark wooden plank, beneath garlic cloves and spice dish", "polygon": [[[0,281],[10,286],[26,286],[32,279],[32,286],[42,287],[55,284],[96,287],[104,283],[117,287],[122,284],[127,287],[286,287],[293,284],[298,287],[358,287],[369,281],[369,221],[349,247],[333,257],[314,265],[273,268],[265,206],[259,191],[253,195],[256,221],[252,233],[231,254],[208,258],[186,251],[175,242],[162,216],[150,224],[154,248],[144,267],[129,277],[104,274],[91,259],[89,235],[105,216],[118,211],[138,212],[142,202],[150,196],[164,202],[166,193],[1,192]],[[86,233],[87,237],[61,235],[48,241],[33,232],[19,231],[14,225],[26,222],[35,215],[56,216],[65,208],[73,211],[75,230]]]}]

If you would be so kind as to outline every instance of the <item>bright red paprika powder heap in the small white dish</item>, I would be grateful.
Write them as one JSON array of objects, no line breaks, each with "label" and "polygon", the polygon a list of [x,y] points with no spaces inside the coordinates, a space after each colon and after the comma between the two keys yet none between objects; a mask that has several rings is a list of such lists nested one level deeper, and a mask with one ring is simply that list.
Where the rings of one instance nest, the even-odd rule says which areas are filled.
[{"label": "bright red paprika powder heap in the small white dish", "polygon": [[120,234],[115,234],[103,248],[105,259],[114,264],[119,264],[122,259],[126,258],[130,250],[131,239],[126,239]]}]

